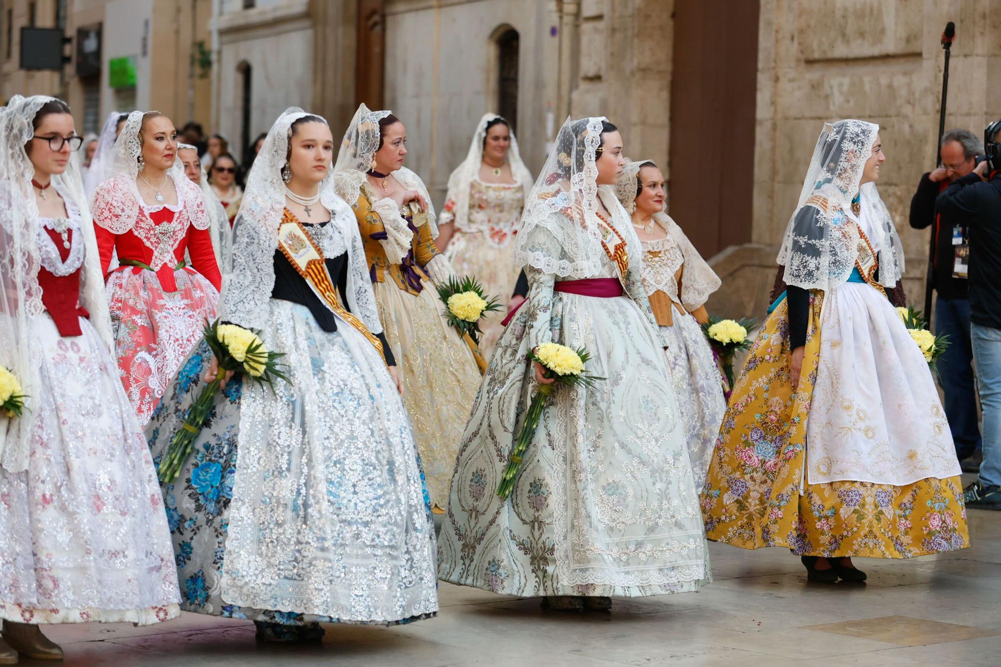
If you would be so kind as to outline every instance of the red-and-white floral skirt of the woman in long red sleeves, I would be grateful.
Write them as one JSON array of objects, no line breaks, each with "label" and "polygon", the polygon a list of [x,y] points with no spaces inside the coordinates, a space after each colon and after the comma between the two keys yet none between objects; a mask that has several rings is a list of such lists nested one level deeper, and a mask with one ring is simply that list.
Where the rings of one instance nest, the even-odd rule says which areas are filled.
[{"label": "red-and-white floral skirt of the woman in long red sleeves", "polygon": [[156,273],[126,266],[108,277],[108,305],[122,386],[145,427],[167,383],[215,318],[219,292],[191,268],[174,271],[177,291]]}]

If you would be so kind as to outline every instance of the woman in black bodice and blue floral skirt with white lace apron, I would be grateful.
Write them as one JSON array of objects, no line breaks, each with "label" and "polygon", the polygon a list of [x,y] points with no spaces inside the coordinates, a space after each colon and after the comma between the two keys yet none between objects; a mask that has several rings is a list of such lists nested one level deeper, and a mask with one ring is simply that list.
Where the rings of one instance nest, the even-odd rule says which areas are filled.
[{"label": "woman in black bodice and blue floral skirt with white lace apron", "polygon": [[[289,381],[231,378],[163,485],[181,607],[251,619],[273,641],[437,612],[430,507],[333,146],[325,120],[285,111],[234,227],[220,318],[284,353]],[[146,428],[156,460],[216,374],[202,344]]]}]

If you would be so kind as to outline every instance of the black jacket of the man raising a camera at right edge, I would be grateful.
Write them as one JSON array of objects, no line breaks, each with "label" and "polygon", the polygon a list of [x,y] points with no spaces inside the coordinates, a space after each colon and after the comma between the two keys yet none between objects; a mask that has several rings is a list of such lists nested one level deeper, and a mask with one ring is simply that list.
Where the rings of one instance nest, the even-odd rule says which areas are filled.
[{"label": "black jacket of the man raising a camera at right edge", "polygon": [[[968,228],[970,320],[1001,328],[1001,173],[957,178],[936,199],[942,217]],[[951,230],[950,230],[950,233]]]}]

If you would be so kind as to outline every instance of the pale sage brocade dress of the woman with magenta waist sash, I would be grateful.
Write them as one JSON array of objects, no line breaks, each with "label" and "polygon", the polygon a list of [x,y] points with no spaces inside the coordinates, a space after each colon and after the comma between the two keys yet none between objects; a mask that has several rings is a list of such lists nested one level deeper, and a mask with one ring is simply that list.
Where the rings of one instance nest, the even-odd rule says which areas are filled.
[{"label": "pale sage brocade dress of the woman with magenta waist sash", "polygon": [[[607,204],[608,205],[608,204]],[[619,206],[616,222],[629,224]],[[556,213],[560,214],[560,213]],[[556,240],[545,229],[528,246]],[[629,294],[530,290],[494,350],[452,477],[438,577],[505,595],[648,596],[709,578],[692,463],[660,335],[631,257]],[[602,272],[618,265],[603,255]],[[586,347],[593,388],[559,388],[510,498],[496,495],[535,393],[526,355],[543,343]]]}]

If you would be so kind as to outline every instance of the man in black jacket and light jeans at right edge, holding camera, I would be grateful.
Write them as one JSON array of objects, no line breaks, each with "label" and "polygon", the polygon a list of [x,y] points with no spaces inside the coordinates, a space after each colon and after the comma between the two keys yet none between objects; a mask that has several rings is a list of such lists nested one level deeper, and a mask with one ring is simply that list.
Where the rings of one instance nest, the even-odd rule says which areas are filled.
[{"label": "man in black jacket and light jeans at right edge, holding camera", "polygon": [[[957,178],[938,196],[944,218],[967,227],[970,340],[984,412],[983,453],[976,482],[963,493],[966,506],[1001,510],[1001,120],[984,133],[987,160]],[[986,177],[985,177],[986,174]]]}]

